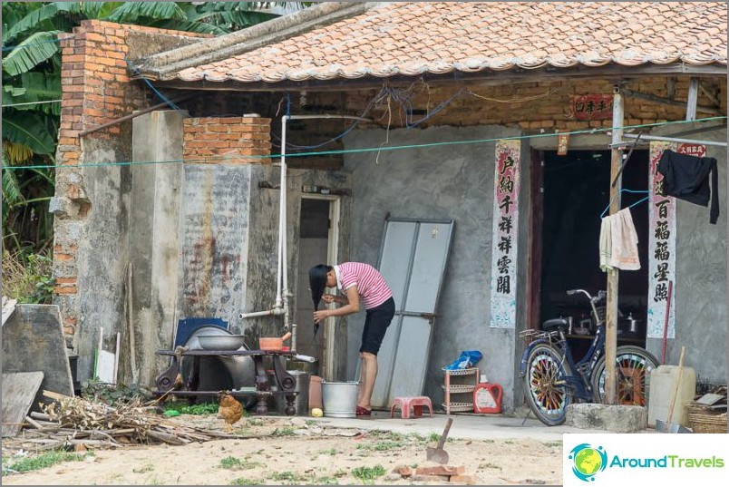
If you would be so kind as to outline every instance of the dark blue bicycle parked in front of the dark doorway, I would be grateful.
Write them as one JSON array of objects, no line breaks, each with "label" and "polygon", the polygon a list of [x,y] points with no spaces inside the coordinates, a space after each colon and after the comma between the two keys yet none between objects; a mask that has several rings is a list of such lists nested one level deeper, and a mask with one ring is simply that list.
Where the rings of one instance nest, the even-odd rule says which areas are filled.
[{"label": "dark blue bicycle parked in front of the dark doorway", "polygon": [[[570,289],[569,296],[588,297],[596,324],[595,337],[587,354],[578,362],[572,358],[565,332],[567,318],[547,320],[543,330],[524,330],[519,336],[526,347],[521,356],[520,377],[524,379],[527,402],[539,421],[548,426],[563,424],[567,406],[574,402],[602,403],[605,396],[605,317],[596,304],[607,294],[592,297],[584,289]],[[650,372],[658,360],[640,346],[618,346],[616,353],[619,404],[647,406]]]}]

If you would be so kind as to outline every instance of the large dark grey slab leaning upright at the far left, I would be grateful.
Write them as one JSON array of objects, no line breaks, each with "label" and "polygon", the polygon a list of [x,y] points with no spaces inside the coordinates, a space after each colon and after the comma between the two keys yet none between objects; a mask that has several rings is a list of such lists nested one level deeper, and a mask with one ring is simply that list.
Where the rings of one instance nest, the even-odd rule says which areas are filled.
[{"label": "large dark grey slab leaning upright at the far left", "polygon": [[71,365],[66,355],[63,326],[57,306],[16,305],[3,326],[3,373],[44,373],[32,409],[46,399],[43,391],[73,395]]}]

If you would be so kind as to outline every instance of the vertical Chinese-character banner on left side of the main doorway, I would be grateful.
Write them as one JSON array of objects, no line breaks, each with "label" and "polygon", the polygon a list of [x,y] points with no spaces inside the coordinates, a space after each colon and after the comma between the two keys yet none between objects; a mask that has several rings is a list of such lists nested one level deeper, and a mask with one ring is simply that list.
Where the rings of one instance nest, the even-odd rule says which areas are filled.
[{"label": "vertical Chinese-character banner on left side of the main doorway", "polygon": [[491,327],[516,324],[520,141],[496,142],[491,244]]}]

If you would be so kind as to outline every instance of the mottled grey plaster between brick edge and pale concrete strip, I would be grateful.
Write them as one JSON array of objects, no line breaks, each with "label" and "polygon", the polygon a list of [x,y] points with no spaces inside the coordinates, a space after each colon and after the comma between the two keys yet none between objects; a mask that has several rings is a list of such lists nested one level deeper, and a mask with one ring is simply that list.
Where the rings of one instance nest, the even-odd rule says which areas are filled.
[{"label": "mottled grey plaster between brick edge and pale concrete strip", "polygon": [[[127,128],[127,127],[125,127]],[[83,139],[83,164],[131,161],[131,130],[122,130],[112,141]],[[53,304],[78,310],[75,351],[79,356],[78,379],[93,372],[93,351],[104,328],[104,349],[116,346],[116,333],[123,331],[124,282],[129,262],[131,168],[129,166],[84,167],[83,191],[90,209],[85,219],[55,219],[55,239],[77,242],[78,295],[53,297]],[[63,275],[63,268],[53,269]],[[73,317],[73,314],[72,314]]]}]

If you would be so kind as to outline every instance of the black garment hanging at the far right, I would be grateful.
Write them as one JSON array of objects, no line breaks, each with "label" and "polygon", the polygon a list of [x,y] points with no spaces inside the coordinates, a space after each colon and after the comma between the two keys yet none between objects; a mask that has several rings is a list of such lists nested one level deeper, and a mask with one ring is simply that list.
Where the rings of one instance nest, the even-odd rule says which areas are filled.
[{"label": "black garment hanging at the far right", "polygon": [[[697,205],[709,206],[709,222],[719,219],[719,176],[713,157],[696,157],[663,151],[658,161],[658,172],[663,174],[663,196],[674,196]],[[709,190],[711,172],[711,190]]]}]

